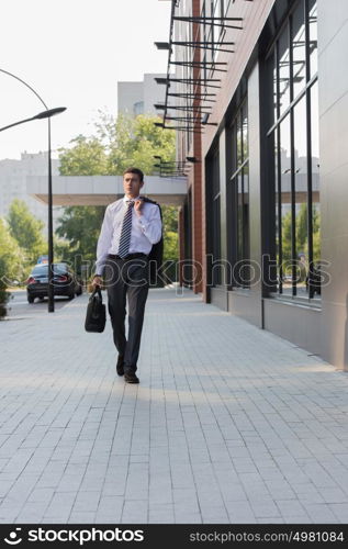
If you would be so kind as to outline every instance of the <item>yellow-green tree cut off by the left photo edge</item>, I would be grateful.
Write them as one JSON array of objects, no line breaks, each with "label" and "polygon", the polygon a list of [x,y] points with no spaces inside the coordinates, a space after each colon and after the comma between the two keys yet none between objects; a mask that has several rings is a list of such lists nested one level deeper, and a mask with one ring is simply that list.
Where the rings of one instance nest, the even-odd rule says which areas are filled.
[{"label": "yellow-green tree cut off by the left photo edge", "polygon": [[11,236],[5,223],[0,219],[0,318],[7,314],[7,302],[10,293],[7,291],[11,280],[23,278],[23,254]]}]

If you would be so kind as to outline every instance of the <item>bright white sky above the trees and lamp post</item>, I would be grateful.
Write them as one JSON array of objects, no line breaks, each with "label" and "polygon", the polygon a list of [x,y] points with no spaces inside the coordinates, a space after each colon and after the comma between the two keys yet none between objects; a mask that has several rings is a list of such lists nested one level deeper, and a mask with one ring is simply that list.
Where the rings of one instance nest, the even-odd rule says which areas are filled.
[{"label": "bright white sky above the trees and lamp post", "polygon": [[[170,1],[1,0],[0,68],[26,81],[49,109],[53,157],[79,134],[90,135],[98,110],[116,113],[117,81],[166,72]],[[25,86],[0,72],[0,127],[43,111]],[[47,122],[0,132],[0,160],[47,150]]]}]

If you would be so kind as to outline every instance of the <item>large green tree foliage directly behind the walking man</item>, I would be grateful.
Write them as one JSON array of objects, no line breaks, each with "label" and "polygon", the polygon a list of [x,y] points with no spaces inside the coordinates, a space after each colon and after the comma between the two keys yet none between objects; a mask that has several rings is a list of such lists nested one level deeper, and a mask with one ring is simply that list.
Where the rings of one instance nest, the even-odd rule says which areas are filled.
[{"label": "large green tree foliage directly behind the walking man", "polygon": [[[136,119],[99,112],[94,123],[93,136],[79,135],[72,139],[70,148],[59,149],[60,173],[63,176],[120,176],[130,166],[142,169],[145,176],[156,172],[154,156],[162,161],[175,159],[176,138],[173,132],[155,126],[158,116],[139,115]],[[145,178],[146,181],[146,178]],[[146,194],[146,186],[144,189]],[[97,240],[104,215],[103,206],[69,206],[58,220],[57,236],[69,242],[69,249],[64,250],[65,258],[74,261],[76,255],[83,260],[94,261]],[[176,254],[177,209],[164,206],[165,255]],[[167,233],[169,236],[167,243]]]}]

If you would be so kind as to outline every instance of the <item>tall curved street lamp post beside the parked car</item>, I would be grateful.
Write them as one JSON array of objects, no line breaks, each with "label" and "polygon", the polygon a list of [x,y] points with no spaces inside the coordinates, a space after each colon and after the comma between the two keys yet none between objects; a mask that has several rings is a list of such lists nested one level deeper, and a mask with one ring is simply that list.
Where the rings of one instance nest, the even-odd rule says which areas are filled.
[{"label": "tall curved street lamp post beside the parked car", "polygon": [[19,78],[18,76],[13,75],[12,72],[9,72],[8,70],[1,69],[0,72],[3,72],[4,75],[8,75],[15,80],[19,80],[21,83],[23,83],[26,88],[29,88],[35,96],[36,98],[41,101],[41,103],[44,105],[46,111],[40,112],[35,116],[31,119],[25,119],[21,120],[20,122],[15,122],[14,124],[10,124],[9,126],[4,126],[0,128],[0,131],[8,130],[9,127],[16,126],[19,124],[24,124],[24,122],[30,122],[32,120],[40,120],[40,119],[48,119],[48,313],[53,313],[55,310],[55,301],[54,301],[54,289],[53,289],[53,222],[52,222],[52,158],[50,158],[50,116],[54,116],[55,114],[59,114],[60,112],[64,112],[66,110],[66,107],[58,107],[56,109],[48,109],[46,105],[45,101],[40,97],[37,91],[34,90],[27,82],[22,80],[22,78]]}]

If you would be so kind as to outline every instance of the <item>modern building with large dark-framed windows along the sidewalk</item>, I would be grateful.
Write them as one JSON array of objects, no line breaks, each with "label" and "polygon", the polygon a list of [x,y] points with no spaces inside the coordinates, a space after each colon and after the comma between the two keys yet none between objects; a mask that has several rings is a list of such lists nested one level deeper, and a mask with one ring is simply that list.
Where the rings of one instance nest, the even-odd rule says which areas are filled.
[{"label": "modern building with large dark-framed windows along the sidewalk", "polygon": [[[176,2],[187,15],[197,4]],[[204,74],[205,96],[191,107],[207,113],[194,127],[202,137],[179,132],[178,149],[201,159],[184,239],[205,258],[203,299],[348,368],[348,2],[201,0],[199,10],[204,47],[178,58],[201,61],[191,75]],[[218,13],[223,30],[206,19]],[[188,20],[176,25],[192,40]]]}]

